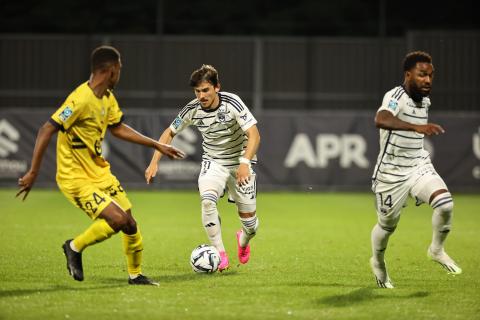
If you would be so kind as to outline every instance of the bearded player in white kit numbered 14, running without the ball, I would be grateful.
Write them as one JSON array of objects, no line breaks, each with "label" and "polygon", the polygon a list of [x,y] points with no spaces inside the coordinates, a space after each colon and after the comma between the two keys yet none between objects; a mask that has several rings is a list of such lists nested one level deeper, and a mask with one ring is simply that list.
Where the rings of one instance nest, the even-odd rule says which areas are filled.
[{"label": "bearded player in white kit numbered 14, running without the ball", "polygon": [[372,190],[376,196],[378,221],[371,234],[373,256],[370,265],[380,288],[393,288],[384,255],[409,194],[416,198],[417,205],[428,203],[433,209],[433,237],[428,257],[451,274],[462,273],[444,250],[452,224],[452,195],[423,148],[425,135],[444,133],[441,126],[428,122],[434,71],[432,58],[421,51],[408,53],[403,70],[403,85],[385,94],[375,117],[375,124],[380,128],[380,152]]}]

